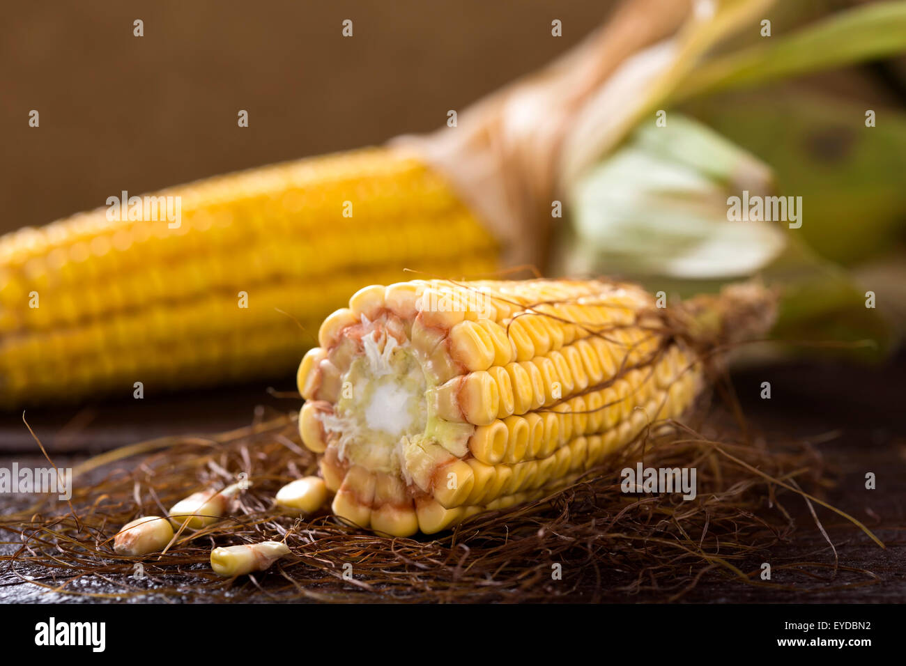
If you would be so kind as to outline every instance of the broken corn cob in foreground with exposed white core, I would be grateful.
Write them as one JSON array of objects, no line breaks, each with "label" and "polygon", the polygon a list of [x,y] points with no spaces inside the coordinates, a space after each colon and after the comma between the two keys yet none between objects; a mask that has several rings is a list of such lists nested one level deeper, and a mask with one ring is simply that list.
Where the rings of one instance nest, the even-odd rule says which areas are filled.
[{"label": "broken corn cob in foreground with exposed white core", "polygon": [[771,303],[755,285],[672,316],[599,281],[368,286],[304,356],[299,429],[337,516],[431,534],[543,497],[678,417],[703,385],[699,345],[766,329]]}]

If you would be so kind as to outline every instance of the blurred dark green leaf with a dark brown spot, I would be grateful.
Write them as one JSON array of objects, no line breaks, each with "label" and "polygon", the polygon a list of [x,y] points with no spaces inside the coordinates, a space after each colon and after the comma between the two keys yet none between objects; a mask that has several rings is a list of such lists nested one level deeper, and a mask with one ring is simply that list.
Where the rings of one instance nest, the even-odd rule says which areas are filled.
[{"label": "blurred dark green leaf with a dark brown spot", "polygon": [[792,87],[724,94],[686,109],[771,165],[777,190],[803,198],[798,230],[818,254],[853,265],[906,237],[906,113]]}]

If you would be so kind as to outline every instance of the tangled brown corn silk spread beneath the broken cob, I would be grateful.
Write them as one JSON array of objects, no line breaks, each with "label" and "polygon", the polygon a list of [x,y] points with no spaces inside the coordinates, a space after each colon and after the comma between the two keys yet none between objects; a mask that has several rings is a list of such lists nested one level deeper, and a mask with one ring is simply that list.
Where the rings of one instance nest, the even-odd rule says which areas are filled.
[{"label": "tangled brown corn silk spread beneath the broken cob", "polygon": [[[738,439],[722,408],[702,405],[693,426],[652,424],[631,447],[550,497],[475,516],[439,538],[396,539],[360,533],[325,513],[296,518],[275,509],[276,490],[316,467],[300,446],[295,417],[267,416],[221,436],[155,440],[128,448],[129,458],[118,460],[114,451],[103,454],[101,467],[90,461],[77,468],[85,475],[72,497],[78,521],[54,499],[0,519],[13,549],[0,557],[0,576],[95,599],[185,602],[664,601],[716,578],[801,589],[760,581],[757,565],[795,532],[784,506],[799,498],[783,485],[819,487],[822,459],[801,442],[778,440],[768,449]],[[646,467],[697,468],[696,499],[623,494],[618,470],[640,459]],[[225,487],[240,472],[253,486],[233,515],[183,532],[166,555],[113,553],[112,537],[134,517],[165,515],[178,499]],[[224,580],[211,571],[211,548],[265,539],[284,540],[293,555],[247,578]],[[137,562],[147,578],[133,577]],[[552,577],[557,564],[562,580]],[[351,580],[344,565],[352,565]],[[827,566],[775,568],[831,581],[822,573]],[[862,569],[839,569],[855,581],[834,584],[838,589],[877,580]],[[103,592],[96,591],[99,581]]]}]

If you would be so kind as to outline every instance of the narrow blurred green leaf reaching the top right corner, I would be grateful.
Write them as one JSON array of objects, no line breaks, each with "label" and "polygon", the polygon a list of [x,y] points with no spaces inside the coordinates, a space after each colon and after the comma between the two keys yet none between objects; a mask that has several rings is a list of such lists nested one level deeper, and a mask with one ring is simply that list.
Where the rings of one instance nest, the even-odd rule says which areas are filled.
[{"label": "narrow blurred green leaf reaching the top right corner", "polygon": [[856,7],[764,42],[703,63],[677,86],[670,102],[903,53],[906,2]]}]

